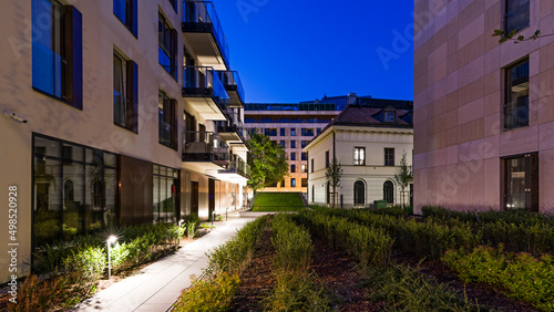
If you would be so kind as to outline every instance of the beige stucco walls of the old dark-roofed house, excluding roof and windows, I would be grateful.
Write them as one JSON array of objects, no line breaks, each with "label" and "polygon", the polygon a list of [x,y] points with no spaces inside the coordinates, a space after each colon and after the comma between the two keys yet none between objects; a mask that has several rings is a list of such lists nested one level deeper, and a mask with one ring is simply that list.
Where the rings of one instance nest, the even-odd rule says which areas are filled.
[{"label": "beige stucco walls of the old dark-roofed house, excluding roof and windows", "polygon": [[[345,207],[352,207],[353,184],[357,180],[362,180],[366,186],[366,206],[372,204],[373,200],[383,198],[383,184],[387,180],[394,184],[394,204],[402,204],[401,189],[393,181],[393,176],[403,153],[406,153],[408,166],[412,164],[412,129],[346,126],[332,126],[306,148],[309,164],[311,164],[311,159],[314,159],[314,171],[311,171],[311,168],[308,168],[308,201],[316,205],[326,204],[327,179],[325,176],[325,163],[327,150],[329,150],[329,160],[332,162],[332,132],[336,133],[336,157],[343,170],[340,180],[341,186],[337,189],[337,204],[340,205],[340,196],[342,196]],[[353,165],[355,147],[366,148],[366,166]],[[386,147],[394,148],[396,166],[384,166]],[[315,197],[312,197],[312,189],[315,190]],[[406,191],[404,198],[408,205],[410,202],[409,188],[407,188]]]}]

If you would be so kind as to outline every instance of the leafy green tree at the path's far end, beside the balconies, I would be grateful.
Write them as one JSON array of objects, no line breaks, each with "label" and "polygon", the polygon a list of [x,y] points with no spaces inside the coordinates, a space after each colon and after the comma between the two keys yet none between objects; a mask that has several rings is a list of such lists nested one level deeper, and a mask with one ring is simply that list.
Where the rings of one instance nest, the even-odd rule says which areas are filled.
[{"label": "leafy green tree at the path's far end, beside the balconies", "polygon": [[285,150],[269,136],[254,132],[246,143],[248,147],[248,165],[250,180],[248,187],[254,193],[258,189],[280,183],[288,175],[288,163]]}]

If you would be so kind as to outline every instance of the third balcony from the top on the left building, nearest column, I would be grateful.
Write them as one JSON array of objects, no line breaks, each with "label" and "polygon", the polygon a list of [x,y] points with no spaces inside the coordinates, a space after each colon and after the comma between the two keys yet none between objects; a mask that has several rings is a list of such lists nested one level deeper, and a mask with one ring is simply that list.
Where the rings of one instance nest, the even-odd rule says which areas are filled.
[{"label": "third balcony from the top on the left building, nearest column", "polygon": [[229,165],[228,145],[213,133],[185,132],[183,137],[183,163],[204,171],[219,170]]}]

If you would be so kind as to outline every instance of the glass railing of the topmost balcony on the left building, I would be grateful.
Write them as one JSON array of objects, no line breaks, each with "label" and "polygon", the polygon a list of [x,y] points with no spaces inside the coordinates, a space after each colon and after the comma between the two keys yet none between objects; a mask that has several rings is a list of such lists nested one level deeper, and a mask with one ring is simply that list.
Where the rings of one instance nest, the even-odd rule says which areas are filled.
[{"label": "glass railing of the topmost balcony on the left building", "polygon": [[223,32],[222,23],[215,11],[214,3],[209,1],[192,1],[185,0],[183,2],[184,15],[183,15],[183,31],[207,31],[207,25],[211,27],[211,31],[214,34],[219,52],[229,66],[229,44]]}]

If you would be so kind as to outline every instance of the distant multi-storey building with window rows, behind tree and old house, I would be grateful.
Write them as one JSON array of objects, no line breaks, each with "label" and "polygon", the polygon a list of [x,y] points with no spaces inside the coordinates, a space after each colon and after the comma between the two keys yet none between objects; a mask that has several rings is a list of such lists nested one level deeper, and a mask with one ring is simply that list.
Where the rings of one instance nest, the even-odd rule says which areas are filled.
[{"label": "distant multi-storey building with window rows, behind tree and old house", "polygon": [[266,134],[285,149],[289,175],[273,187],[260,191],[308,190],[308,159],[302,148],[325,128],[348,104],[358,103],[355,93],[347,96],[325,96],[299,103],[247,103],[245,127]]}]

